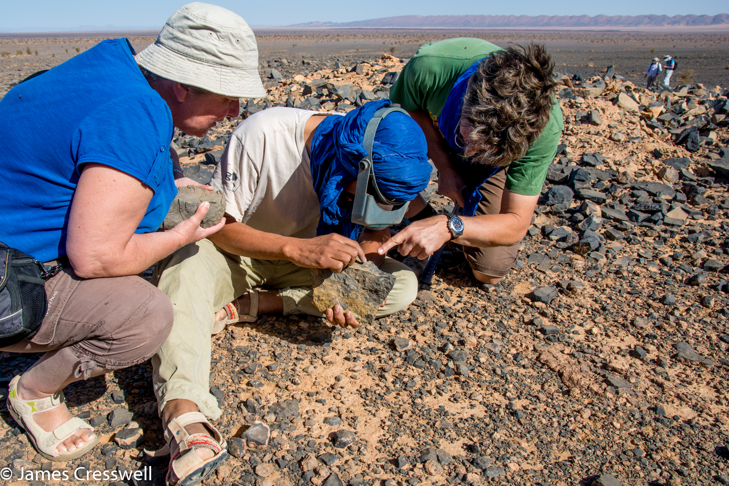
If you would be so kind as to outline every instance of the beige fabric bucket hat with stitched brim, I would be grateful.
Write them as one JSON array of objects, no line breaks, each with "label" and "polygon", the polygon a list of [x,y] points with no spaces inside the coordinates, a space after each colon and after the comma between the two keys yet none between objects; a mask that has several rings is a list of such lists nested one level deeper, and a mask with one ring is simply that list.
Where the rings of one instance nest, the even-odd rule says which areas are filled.
[{"label": "beige fabric bucket hat with stitched brim", "polygon": [[266,95],[253,31],[240,15],[217,5],[195,2],[177,9],[136,61],[157,76],[220,95]]}]

